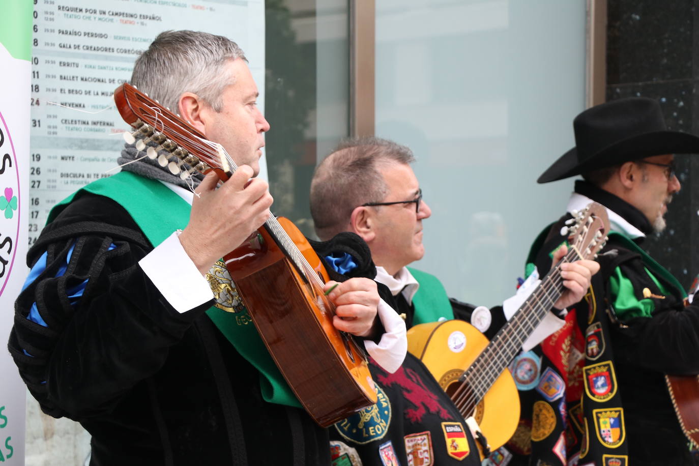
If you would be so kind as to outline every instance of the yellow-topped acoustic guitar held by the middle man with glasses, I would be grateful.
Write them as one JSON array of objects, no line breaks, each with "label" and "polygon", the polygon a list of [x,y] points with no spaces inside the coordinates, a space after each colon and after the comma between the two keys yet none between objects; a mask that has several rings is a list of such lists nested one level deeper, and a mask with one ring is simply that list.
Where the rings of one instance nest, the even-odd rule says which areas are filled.
[{"label": "yellow-topped acoustic guitar held by the middle man with glasses", "polygon": [[568,254],[490,342],[459,320],[421,323],[408,330],[408,351],[427,366],[463,417],[475,418],[493,450],[512,437],[519,422],[519,395],[507,366],[563,294],[561,264],[593,259],[607,240],[607,210],[598,203],[588,205],[568,224],[563,227],[569,235]]}]

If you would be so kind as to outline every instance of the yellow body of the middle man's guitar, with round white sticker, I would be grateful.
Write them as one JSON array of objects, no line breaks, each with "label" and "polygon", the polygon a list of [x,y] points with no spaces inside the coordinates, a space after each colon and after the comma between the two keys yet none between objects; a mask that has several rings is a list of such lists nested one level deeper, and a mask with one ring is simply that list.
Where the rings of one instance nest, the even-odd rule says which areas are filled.
[{"label": "yellow body of the middle man's guitar, with round white sticker", "polygon": [[[461,375],[488,344],[477,328],[460,320],[421,323],[408,330],[408,351],[427,366],[452,400],[454,391],[461,386]],[[491,449],[498,449],[512,437],[519,422],[517,386],[510,370],[505,369],[487,393],[480,396],[478,391],[479,388],[466,387],[474,402],[461,413],[473,416]],[[481,401],[476,405],[478,399]]]}]

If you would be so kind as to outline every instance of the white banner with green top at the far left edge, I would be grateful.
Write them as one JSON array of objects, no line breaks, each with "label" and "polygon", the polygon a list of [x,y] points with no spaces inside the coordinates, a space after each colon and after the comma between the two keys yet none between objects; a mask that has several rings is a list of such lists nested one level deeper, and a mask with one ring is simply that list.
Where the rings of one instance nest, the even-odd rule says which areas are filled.
[{"label": "white banner with green top at the far left edge", "polygon": [[7,351],[15,298],[27,277],[31,4],[0,7],[0,463],[24,464],[27,388]]}]

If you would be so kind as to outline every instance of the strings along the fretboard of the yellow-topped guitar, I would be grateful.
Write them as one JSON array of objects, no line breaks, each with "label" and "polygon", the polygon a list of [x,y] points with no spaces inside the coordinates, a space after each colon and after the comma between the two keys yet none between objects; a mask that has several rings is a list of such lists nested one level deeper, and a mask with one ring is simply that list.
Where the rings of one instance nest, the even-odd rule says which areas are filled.
[{"label": "strings along the fretboard of the yellow-topped guitar", "polygon": [[[592,219],[589,217],[587,221],[588,224],[590,224]],[[588,226],[583,226],[583,233],[586,233],[587,228]],[[510,323],[507,323],[502,331],[493,337],[493,345],[489,347],[491,351],[488,351],[488,349],[484,351],[475,359],[468,370],[463,372],[460,378],[463,380],[459,388],[457,388],[452,395],[452,400],[454,400],[454,404],[464,416],[468,416],[468,414],[475,409],[477,403],[480,402],[485,393],[487,393],[493,382],[500,377],[500,374],[505,370],[509,362],[512,361],[512,358],[517,355],[521,344],[526,340],[522,335],[528,335],[528,333],[538,325],[542,316],[545,315],[546,312],[549,312],[557,299],[552,296],[552,293],[549,293],[549,289],[560,289],[563,284],[563,278],[559,272],[560,265],[563,262],[570,262],[572,259],[576,259],[576,256],[579,259],[583,259],[582,254],[578,252],[578,247],[584,240],[585,235],[578,235],[576,238],[577,244],[571,246],[571,250],[568,254],[566,254],[552,270],[552,272],[555,270],[556,273],[552,275],[552,273],[549,272],[547,277],[545,277],[545,282],[540,284],[539,289],[543,289],[542,294],[544,295],[541,299],[542,302],[539,302],[539,297],[535,296],[537,293],[531,295],[530,298],[533,300],[528,300],[524,303],[513,319],[510,320]],[[554,291],[553,293],[555,294],[556,292]],[[533,312],[531,310],[532,307],[535,307],[535,309],[538,307],[538,312]],[[507,333],[509,328],[515,325],[521,326],[523,324],[528,326],[529,332]],[[503,347],[509,351],[509,354],[503,355],[501,351],[498,351],[503,349]],[[476,374],[478,379],[473,378]],[[472,388],[472,390],[468,391],[467,388]]]}]

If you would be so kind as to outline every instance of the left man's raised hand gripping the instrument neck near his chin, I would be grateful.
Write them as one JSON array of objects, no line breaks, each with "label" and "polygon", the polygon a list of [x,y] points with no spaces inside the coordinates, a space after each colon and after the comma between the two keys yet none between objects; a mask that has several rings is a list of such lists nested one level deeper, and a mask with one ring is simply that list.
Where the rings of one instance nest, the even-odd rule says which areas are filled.
[{"label": "left man's raised hand gripping the instrument neck near his chin", "polygon": [[209,172],[194,191],[189,224],[180,234],[180,243],[201,275],[269,218],[272,195],[267,183],[251,179],[252,175],[252,168],[240,166],[217,189],[219,177]]}]

